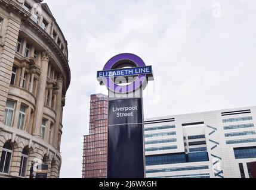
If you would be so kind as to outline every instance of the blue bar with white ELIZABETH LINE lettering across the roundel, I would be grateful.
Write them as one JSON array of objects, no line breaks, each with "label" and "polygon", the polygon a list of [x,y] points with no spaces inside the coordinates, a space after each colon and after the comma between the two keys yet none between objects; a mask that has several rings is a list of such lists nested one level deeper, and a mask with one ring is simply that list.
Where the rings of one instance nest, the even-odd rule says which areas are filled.
[{"label": "blue bar with white ELIZABETH LINE lettering across the roundel", "polygon": [[133,68],[122,68],[122,69],[112,69],[109,71],[98,71],[97,78],[98,80],[102,78],[110,77],[128,77],[134,75],[152,75],[152,66],[142,66],[142,67],[133,67]]}]

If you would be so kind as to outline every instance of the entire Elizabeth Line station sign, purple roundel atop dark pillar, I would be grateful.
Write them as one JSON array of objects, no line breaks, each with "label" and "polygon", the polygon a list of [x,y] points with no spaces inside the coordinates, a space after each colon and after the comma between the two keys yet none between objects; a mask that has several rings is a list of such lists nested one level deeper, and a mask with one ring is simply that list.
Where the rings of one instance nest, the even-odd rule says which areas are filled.
[{"label": "entire Elizabeth Line station sign, purple roundel atop dark pillar", "polygon": [[145,178],[143,90],[152,66],[131,53],[114,56],[97,72],[109,89],[107,178]]}]

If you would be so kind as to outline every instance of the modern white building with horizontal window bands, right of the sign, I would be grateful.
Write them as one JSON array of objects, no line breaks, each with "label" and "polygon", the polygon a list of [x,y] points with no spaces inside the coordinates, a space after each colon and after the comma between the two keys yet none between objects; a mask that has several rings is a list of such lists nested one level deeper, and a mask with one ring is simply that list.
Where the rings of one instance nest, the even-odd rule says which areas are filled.
[{"label": "modern white building with horizontal window bands, right of the sign", "polygon": [[256,106],[150,118],[146,178],[255,178]]}]

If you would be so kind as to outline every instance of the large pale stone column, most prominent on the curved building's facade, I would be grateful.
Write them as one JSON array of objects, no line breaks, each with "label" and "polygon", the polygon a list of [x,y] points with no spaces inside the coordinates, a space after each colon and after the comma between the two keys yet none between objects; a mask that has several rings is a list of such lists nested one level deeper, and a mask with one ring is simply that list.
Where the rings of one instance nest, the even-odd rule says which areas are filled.
[{"label": "large pale stone column, most prominent on the curved building's facade", "polygon": [[41,76],[38,81],[39,90],[36,102],[35,121],[33,129],[33,135],[39,138],[41,137],[41,125],[45,103],[45,88],[47,85],[47,69],[50,58],[51,53],[49,52],[43,52],[41,55]]}]

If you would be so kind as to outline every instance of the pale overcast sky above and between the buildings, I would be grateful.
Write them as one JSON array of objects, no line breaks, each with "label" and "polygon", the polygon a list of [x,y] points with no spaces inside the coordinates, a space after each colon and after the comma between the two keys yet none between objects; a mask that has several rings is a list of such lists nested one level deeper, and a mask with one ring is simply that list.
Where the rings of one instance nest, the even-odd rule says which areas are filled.
[{"label": "pale overcast sky above and between the buildings", "polygon": [[[66,36],[71,85],[61,142],[61,178],[81,178],[90,94],[112,56],[153,66],[144,117],[256,105],[254,0],[45,0]],[[150,96],[151,95],[151,96]]]}]

